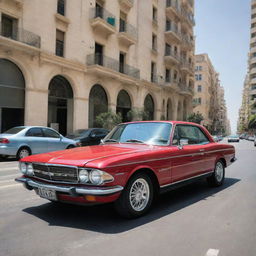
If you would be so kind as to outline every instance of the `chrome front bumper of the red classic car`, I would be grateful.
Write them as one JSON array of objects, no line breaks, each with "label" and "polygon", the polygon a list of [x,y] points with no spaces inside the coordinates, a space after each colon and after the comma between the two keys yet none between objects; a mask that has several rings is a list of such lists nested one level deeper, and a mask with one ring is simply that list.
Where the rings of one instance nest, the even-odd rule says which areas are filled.
[{"label": "chrome front bumper of the red classic car", "polygon": [[38,181],[31,180],[29,178],[16,178],[15,181],[23,183],[24,186],[29,189],[35,188],[47,188],[52,189],[57,192],[68,193],[71,196],[79,196],[79,195],[94,195],[94,196],[104,196],[111,195],[123,190],[122,186],[114,186],[114,187],[102,187],[102,188],[83,188],[83,187],[74,187],[74,186],[62,186],[62,185],[50,185],[41,183]]}]

